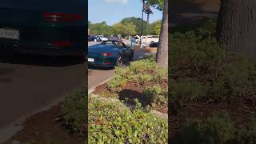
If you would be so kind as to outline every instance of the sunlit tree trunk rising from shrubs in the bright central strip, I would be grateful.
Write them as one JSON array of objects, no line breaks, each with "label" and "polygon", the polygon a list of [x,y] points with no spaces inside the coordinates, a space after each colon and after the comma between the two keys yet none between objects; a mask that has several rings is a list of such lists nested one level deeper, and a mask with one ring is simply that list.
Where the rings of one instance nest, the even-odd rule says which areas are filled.
[{"label": "sunlit tree trunk rising from shrubs in the bright central strip", "polygon": [[168,0],[165,0],[162,14],[162,26],[158,43],[157,62],[159,66],[168,66]]}]

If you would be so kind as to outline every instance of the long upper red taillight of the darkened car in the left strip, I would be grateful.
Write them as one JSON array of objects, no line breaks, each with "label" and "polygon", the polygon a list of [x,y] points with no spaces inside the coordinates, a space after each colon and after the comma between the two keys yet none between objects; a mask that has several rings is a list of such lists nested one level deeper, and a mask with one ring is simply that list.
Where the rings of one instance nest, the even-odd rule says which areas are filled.
[{"label": "long upper red taillight of the darkened car in the left strip", "polygon": [[45,22],[76,22],[82,19],[81,15],[67,13],[43,13],[42,16]]}]

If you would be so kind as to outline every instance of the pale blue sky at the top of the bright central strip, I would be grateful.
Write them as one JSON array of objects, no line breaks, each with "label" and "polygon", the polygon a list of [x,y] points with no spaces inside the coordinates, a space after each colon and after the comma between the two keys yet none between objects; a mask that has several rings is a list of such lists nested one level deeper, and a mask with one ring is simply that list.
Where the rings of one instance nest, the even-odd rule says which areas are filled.
[{"label": "pale blue sky at the top of the bright central strip", "polygon": [[[106,21],[107,25],[113,25],[122,18],[142,18],[142,0],[89,0],[88,7],[88,18],[93,23]],[[150,22],[162,19],[161,11],[153,7],[151,10],[154,14],[150,15]]]}]

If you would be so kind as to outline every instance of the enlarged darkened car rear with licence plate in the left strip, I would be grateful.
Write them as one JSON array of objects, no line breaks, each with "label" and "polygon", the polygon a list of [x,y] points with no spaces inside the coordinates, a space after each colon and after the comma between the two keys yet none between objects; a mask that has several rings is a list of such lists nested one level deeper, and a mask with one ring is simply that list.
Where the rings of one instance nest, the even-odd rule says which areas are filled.
[{"label": "enlarged darkened car rear with licence plate in the left strip", "polygon": [[82,0],[1,0],[0,49],[84,58],[86,5]]}]

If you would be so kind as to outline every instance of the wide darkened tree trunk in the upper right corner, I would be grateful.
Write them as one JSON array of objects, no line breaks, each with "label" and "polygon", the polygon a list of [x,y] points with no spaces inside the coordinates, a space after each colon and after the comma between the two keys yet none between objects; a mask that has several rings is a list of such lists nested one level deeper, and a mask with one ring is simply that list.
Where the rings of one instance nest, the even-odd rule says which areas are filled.
[{"label": "wide darkened tree trunk in the upper right corner", "polygon": [[256,58],[256,1],[221,0],[217,34],[230,52]]}]

